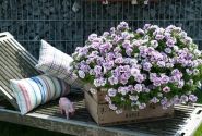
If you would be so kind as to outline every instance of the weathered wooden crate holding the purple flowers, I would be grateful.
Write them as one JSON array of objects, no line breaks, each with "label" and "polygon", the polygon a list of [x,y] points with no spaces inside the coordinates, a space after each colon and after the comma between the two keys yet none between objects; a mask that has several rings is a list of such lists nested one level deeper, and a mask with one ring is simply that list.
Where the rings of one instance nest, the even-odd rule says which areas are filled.
[{"label": "weathered wooden crate holding the purple flowers", "polygon": [[139,111],[123,110],[121,114],[116,114],[106,102],[98,103],[95,100],[95,98],[99,98],[98,96],[95,97],[88,91],[84,94],[86,108],[94,121],[100,126],[156,121],[171,118],[174,114],[174,108],[163,110],[161,106],[147,107]]}]

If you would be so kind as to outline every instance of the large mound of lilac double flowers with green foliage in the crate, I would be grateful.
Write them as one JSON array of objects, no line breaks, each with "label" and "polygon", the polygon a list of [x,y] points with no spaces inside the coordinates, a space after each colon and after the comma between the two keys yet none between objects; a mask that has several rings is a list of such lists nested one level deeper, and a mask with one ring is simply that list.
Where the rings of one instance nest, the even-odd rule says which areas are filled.
[{"label": "large mound of lilac double flowers with green foliage in the crate", "polygon": [[163,109],[195,102],[201,87],[202,55],[180,27],[145,24],[131,30],[121,22],[102,36],[92,34],[72,54],[74,73],[96,88],[107,88],[109,108]]}]

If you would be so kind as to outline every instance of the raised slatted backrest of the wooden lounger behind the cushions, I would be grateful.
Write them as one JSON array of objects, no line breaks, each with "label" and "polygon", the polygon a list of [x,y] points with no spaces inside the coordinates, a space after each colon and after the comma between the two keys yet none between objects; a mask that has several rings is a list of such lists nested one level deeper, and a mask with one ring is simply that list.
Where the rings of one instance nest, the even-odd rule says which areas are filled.
[{"label": "raised slatted backrest of the wooden lounger behind the cushions", "polygon": [[17,109],[10,79],[40,74],[34,66],[37,60],[9,33],[0,33],[0,94]]}]

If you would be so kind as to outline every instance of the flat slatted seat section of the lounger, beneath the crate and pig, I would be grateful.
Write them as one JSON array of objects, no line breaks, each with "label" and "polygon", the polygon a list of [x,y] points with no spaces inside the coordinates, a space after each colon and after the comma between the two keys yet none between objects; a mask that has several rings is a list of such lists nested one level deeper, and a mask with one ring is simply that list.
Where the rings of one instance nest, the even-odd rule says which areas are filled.
[{"label": "flat slatted seat section of the lounger, beneath the crate and pig", "polygon": [[[175,107],[175,115],[173,119],[164,120],[164,121],[155,121],[155,122],[144,122],[144,123],[133,123],[128,125],[119,125],[119,126],[111,126],[111,127],[99,127],[93,121],[91,115],[88,114],[84,100],[81,97],[82,95],[78,94],[76,96],[70,95],[69,97],[74,101],[78,108],[75,115],[70,119],[66,120],[64,115],[61,115],[58,111],[58,101],[52,101],[48,104],[41,106],[37,108],[32,113],[21,116],[20,113],[10,113],[9,116],[13,123],[20,123],[24,125],[33,125],[34,127],[39,127],[49,131],[56,131],[64,134],[72,134],[78,136],[90,135],[90,136],[154,136],[154,135],[166,135],[173,136],[177,133],[185,125],[185,121],[190,116],[192,112],[188,109],[190,107]],[[78,99],[75,99],[78,98]],[[202,106],[201,106],[202,107]],[[185,110],[187,109],[187,111]],[[194,108],[192,108],[192,111]],[[0,109],[0,114],[3,111]],[[8,111],[7,111],[8,112]],[[36,118],[37,116],[37,118]],[[48,120],[41,116],[47,116]],[[17,119],[17,120],[16,120]],[[56,119],[56,120],[55,120]],[[0,120],[7,120],[7,118],[1,118]],[[9,119],[8,119],[9,120]],[[10,119],[11,120],[11,119]],[[16,120],[16,121],[15,121]],[[78,123],[76,125],[74,125]],[[46,125],[46,127],[41,127],[41,125]],[[73,127],[70,127],[73,126]],[[75,128],[74,128],[75,127]],[[80,129],[81,133],[75,133],[74,131]],[[103,133],[102,133],[103,132]]]}]

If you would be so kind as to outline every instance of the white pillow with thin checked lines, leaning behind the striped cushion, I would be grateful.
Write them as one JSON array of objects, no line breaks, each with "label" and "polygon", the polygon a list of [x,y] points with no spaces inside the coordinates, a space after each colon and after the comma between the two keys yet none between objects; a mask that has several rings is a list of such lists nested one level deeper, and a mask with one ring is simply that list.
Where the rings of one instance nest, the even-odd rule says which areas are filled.
[{"label": "white pillow with thin checked lines, leaning behind the striped cushion", "polygon": [[76,75],[72,73],[72,61],[73,59],[70,55],[41,40],[39,61],[36,69],[61,78],[70,85],[82,87],[81,82],[76,79]]}]

